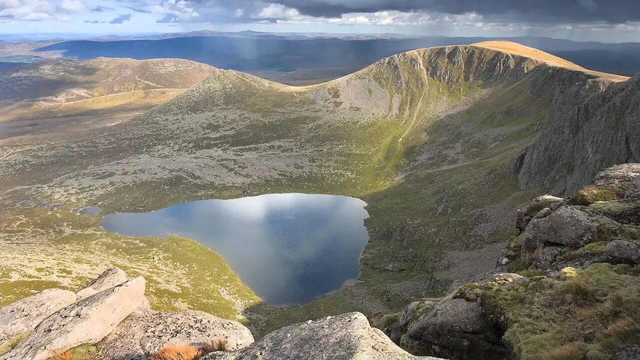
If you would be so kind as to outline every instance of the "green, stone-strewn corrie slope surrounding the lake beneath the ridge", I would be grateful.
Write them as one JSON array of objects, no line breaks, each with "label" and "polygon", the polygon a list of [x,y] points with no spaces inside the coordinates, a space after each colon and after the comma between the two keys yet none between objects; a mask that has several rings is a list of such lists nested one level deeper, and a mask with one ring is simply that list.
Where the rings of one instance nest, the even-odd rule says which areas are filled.
[{"label": "green, stone-strewn corrie slope surrounding the lake beneath the ridge", "polygon": [[[222,272],[230,277],[225,287],[248,300],[249,313],[260,313],[268,330],[351,310],[392,312],[410,300],[442,294],[452,281],[445,269],[456,267],[445,256],[508,240],[509,213],[544,191],[518,191],[515,177],[503,170],[532,141],[548,103],[531,97],[528,78],[516,70],[509,76],[482,75],[495,61],[501,61],[495,68],[506,71],[540,64],[479,47],[436,48],[300,88],[220,70],[127,124],[0,143],[0,170],[12,169],[0,178],[5,202],[0,213],[7,219],[0,241],[15,252],[34,254],[28,261],[0,256],[4,278],[32,277],[9,283],[2,299],[10,300],[10,288],[26,294],[54,284],[77,287],[113,264],[156,279],[154,291],[161,294],[154,298],[156,307],[232,317],[237,315],[230,311],[234,302],[213,289],[221,284],[215,273]],[[188,251],[175,252],[187,240],[115,236],[91,228],[97,218],[80,227],[68,210],[47,213],[9,204],[29,199],[67,206],[95,203],[106,212],[143,211],[238,197],[244,188],[252,194],[336,193],[365,199],[371,239],[360,282],[288,311],[251,306],[255,295],[215,254],[193,243],[185,245]],[[47,220],[34,223],[31,211],[44,211]],[[63,219],[68,230],[42,231],[51,218]],[[9,228],[15,231],[4,230]],[[75,258],[91,259],[96,243],[100,252],[113,256],[74,266],[72,274],[54,270]],[[157,256],[173,259],[165,263],[170,270],[143,272],[154,264],[143,256],[152,248]],[[52,261],[58,257],[60,263]],[[203,262],[207,257],[214,260]],[[141,259],[140,266],[127,265]],[[36,263],[44,263],[48,273],[20,270]],[[171,281],[174,272],[180,276]],[[166,290],[177,283],[180,291]]]}]

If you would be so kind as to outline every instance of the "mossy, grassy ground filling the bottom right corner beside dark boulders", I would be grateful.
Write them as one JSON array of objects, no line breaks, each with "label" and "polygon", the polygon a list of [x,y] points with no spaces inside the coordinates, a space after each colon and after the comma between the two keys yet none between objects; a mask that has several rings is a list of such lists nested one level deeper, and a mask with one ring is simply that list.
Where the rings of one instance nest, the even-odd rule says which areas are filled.
[{"label": "mossy, grassy ground filling the bottom right corner beside dark boulders", "polygon": [[610,359],[621,346],[639,343],[639,266],[598,263],[572,274],[480,287],[484,312],[505,330],[516,358]]}]

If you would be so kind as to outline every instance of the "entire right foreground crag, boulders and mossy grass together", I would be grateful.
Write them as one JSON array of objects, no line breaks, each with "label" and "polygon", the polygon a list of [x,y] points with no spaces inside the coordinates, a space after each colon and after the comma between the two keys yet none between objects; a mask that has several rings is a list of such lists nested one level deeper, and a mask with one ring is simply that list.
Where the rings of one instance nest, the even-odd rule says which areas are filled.
[{"label": "entire right foreground crag, boulders and mossy grass together", "polygon": [[452,359],[637,359],[639,215],[638,163],[572,197],[538,197],[516,213],[503,273],[387,315],[384,331],[413,354]]}]

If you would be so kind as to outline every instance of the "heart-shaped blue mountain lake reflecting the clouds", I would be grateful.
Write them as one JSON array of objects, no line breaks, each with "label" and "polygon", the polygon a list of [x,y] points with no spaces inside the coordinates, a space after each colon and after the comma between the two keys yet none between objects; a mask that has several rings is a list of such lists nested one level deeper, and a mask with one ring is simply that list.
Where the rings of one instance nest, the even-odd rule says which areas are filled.
[{"label": "heart-shaped blue mountain lake reflecting the clouds", "polygon": [[272,194],[110,214],[100,225],[131,236],[200,241],[266,302],[295,306],[357,279],[367,244],[364,206],[352,197]]}]

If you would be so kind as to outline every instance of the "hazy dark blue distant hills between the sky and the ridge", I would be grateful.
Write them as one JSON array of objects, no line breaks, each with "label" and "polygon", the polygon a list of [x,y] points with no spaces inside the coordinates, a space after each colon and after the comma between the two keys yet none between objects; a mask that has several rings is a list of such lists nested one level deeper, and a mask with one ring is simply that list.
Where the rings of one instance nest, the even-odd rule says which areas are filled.
[{"label": "hazy dark blue distant hills between the sky and the ridge", "polygon": [[[374,61],[412,49],[510,40],[535,47],[587,69],[633,76],[640,72],[640,43],[604,44],[554,38],[407,37],[395,34],[333,35],[324,33],[262,33],[193,31],[162,35],[111,36],[85,40],[0,43],[0,61],[7,55],[92,59],[182,58],[221,69],[241,70],[290,85],[307,85],[364,69]],[[5,56],[3,56],[5,55]],[[0,70],[13,65],[0,65]],[[294,74],[295,72],[295,74]]]}]

